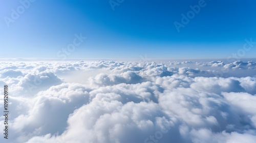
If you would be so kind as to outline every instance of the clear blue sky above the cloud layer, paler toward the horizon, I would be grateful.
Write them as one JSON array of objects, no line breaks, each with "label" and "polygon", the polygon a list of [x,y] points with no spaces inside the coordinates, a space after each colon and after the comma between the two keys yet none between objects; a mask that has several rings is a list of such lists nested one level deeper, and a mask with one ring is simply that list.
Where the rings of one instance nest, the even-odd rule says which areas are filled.
[{"label": "clear blue sky above the cloud layer, paler toward the horizon", "polygon": [[[60,58],[75,34],[87,39],[67,58],[226,58],[256,41],[252,0],[205,0],[178,32],[174,22],[200,1],[113,0],[113,10],[109,0],[1,0],[0,58]],[[30,4],[13,19],[21,2]],[[243,58],[255,53],[256,45]]]}]

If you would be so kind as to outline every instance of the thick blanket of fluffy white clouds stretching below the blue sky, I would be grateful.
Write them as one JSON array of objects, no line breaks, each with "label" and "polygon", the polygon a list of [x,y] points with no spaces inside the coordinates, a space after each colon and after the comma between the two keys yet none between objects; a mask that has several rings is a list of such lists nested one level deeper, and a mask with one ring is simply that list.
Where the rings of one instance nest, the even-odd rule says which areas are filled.
[{"label": "thick blanket of fluffy white clouds stretching below the blue sky", "polygon": [[2,62],[8,141],[254,142],[255,67],[252,61]]}]

